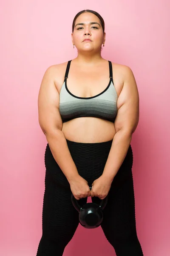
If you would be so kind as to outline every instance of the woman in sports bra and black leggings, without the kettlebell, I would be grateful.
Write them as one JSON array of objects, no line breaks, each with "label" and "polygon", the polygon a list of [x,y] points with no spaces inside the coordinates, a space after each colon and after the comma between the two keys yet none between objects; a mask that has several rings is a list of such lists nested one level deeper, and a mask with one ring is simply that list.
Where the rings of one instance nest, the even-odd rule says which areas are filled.
[{"label": "woman in sports bra and black leggings, without the kettlebell", "polygon": [[108,195],[101,224],[106,238],[117,256],[141,256],[130,146],[139,121],[136,81],[129,67],[101,57],[105,23],[97,12],[79,12],[71,36],[77,58],[49,67],[38,97],[48,144],[37,256],[62,256],[74,236],[79,213],[71,193],[79,204]]}]

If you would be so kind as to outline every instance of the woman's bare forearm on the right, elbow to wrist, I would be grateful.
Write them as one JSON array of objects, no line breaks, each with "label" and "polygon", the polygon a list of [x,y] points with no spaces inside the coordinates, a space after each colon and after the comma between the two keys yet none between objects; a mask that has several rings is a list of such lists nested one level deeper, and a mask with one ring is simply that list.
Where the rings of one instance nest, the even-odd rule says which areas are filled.
[{"label": "woman's bare forearm on the right, elbow to wrist", "polygon": [[119,130],[111,145],[108,159],[105,164],[102,176],[113,181],[116,173],[122,165],[132,139],[132,134]]}]

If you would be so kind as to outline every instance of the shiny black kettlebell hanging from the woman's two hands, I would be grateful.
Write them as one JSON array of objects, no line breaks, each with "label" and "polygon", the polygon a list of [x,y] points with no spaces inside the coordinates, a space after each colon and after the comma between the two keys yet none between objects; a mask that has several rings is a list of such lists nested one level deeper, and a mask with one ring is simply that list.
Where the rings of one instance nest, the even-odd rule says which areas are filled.
[{"label": "shiny black kettlebell hanging from the woman's two hands", "polygon": [[[92,187],[89,187],[92,189]],[[79,212],[79,223],[85,228],[99,227],[103,220],[103,209],[108,202],[108,196],[101,200],[100,204],[86,203],[80,207],[78,200],[71,195],[71,201],[75,209]]]}]

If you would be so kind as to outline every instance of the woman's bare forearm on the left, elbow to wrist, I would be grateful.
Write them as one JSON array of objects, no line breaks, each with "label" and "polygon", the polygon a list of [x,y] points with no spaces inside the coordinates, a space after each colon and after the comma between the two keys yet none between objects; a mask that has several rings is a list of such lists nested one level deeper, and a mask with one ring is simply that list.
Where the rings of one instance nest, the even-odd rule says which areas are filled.
[{"label": "woman's bare forearm on the left, elbow to wrist", "polygon": [[78,176],[77,167],[71,157],[65,136],[62,131],[56,130],[51,133],[45,133],[51,153],[70,183]]}]

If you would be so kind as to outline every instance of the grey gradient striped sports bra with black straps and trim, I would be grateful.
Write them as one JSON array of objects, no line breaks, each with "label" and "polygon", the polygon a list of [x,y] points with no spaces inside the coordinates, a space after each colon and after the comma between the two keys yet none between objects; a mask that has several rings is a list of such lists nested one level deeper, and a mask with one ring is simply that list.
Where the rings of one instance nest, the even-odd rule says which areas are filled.
[{"label": "grey gradient striped sports bra with black straps and trim", "polygon": [[68,90],[67,79],[71,61],[68,61],[65,79],[59,93],[59,112],[62,122],[93,116],[114,122],[117,114],[117,93],[113,84],[112,63],[109,63],[110,81],[101,93],[92,97],[78,97]]}]

